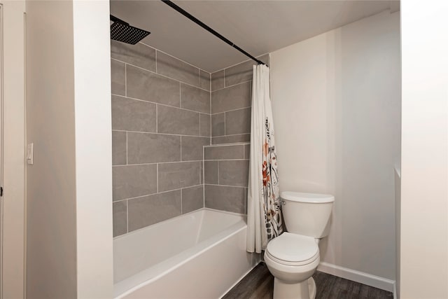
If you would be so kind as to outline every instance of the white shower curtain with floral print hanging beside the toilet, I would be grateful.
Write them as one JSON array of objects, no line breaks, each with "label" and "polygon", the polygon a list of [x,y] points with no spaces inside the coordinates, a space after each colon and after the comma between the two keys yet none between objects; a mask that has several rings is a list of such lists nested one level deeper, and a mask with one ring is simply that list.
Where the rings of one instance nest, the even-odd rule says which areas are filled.
[{"label": "white shower curtain with floral print hanging beside the toilet", "polygon": [[247,251],[260,253],[283,232],[279,178],[269,97],[269,67],[253,66]]}]

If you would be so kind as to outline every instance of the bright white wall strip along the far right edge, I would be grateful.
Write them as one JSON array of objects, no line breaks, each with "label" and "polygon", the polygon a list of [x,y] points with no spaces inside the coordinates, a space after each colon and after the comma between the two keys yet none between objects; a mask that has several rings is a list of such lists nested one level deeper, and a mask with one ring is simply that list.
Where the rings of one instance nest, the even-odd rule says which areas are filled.
[{"label": "bright white wall strip along the far right edge", "polygon": [[401,298],[448,298],[447,12],[402,1]]}]

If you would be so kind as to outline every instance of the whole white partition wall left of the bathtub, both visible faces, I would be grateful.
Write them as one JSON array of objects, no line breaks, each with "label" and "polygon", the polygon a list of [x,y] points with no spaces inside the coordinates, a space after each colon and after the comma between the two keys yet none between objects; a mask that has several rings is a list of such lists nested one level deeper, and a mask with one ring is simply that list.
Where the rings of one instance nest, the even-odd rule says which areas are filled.
[{"label": "whole white partition wall left of the bathtub, both visible faces", "polygon": [[27,297],[111,298],[109,1],[27,1]]}]

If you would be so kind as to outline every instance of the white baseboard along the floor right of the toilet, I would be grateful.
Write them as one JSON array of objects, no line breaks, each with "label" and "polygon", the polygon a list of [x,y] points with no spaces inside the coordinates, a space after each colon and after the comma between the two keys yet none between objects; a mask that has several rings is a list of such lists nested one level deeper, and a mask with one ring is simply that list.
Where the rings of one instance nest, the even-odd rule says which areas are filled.
[{"label": "white baseboard along the floor right of the toilet", "polygon": [[[395,281],[386,279],[383,277],[351,270],[346,267],[340,267],[330,263],[321,262],[318,267],[318,271],[349,279],[359,282],[360,284],[367,284],[367,286],[373,286],[374,288],[381,288],[381,290],[394,292]],[[394,292],[395,293],[395,292]]]}]

